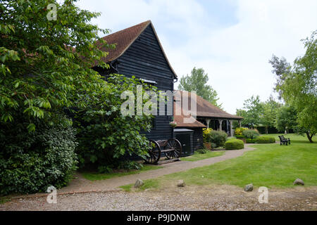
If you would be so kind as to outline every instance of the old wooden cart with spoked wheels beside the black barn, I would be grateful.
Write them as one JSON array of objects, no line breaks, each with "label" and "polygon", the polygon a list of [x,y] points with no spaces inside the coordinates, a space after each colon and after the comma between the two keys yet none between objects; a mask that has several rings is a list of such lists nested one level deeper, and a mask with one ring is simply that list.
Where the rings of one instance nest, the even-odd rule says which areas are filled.
[{"label": "old wooden cart with spoked wheels beside the black barn", "polygon": [[[145,159],[147,164],[159,165],[180,160],[182,146],[177,139],[160,141],[149,140],[149,146],[149,156]],[[159,162],[162,153],[166,156],[167,160]]]}]

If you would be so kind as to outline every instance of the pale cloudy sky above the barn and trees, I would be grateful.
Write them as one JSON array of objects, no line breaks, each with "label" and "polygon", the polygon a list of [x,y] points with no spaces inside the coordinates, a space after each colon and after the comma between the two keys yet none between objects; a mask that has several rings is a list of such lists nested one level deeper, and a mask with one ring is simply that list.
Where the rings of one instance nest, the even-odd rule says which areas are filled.
[{"label": "pale cloudy sky above the barn and trees", "polygon": [[[317,29],[316,0],[80,0],[112,32],[151,20],[178,77],[204,68],[220,103],[235,114],[251,95],[265,101],[273,54],[293,62]],[[175,86],[178,87],[178,84]]]}]

